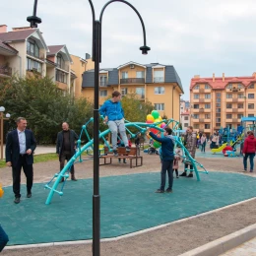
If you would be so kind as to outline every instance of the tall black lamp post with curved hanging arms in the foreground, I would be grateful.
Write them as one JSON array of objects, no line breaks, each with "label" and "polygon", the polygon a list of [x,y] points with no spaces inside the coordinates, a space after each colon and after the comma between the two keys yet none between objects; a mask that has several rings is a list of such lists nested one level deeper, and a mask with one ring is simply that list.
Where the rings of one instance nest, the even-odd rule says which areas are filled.
[{"label": "tall black lamp post with curved hanging arms in the foreground", "polygon": [[[138,15],[143,29],[144,45],[140,47],[142,54],[148,54],[151,49],[146,44],[146,31],[144,22],[140,13],[136,8],[124,0],[111,0],[108,1],[101,9],[99,20],[96,20],[95,8],[92,0],[89,0],[93,14],[93,61],[95,61],[95,109],[94,109],[94,195],[93,195],[93,255],[99,256],[99,240],[100,240],[100,205],[99,205],[99,159],[98,159],[98,128],[99,128],[99,116],[98,116],[98,74],[99,74],[99,63],[101,62],[101,24],[102,16],[105,8],[113,3],[121,2],[130,6],[135,13]],[[41,23],[41,19],[36,17],[37,0],[34,0],[33,15],[27,18],[27,21],[31,23],[32,28],[37,28],[37,24]]]}]

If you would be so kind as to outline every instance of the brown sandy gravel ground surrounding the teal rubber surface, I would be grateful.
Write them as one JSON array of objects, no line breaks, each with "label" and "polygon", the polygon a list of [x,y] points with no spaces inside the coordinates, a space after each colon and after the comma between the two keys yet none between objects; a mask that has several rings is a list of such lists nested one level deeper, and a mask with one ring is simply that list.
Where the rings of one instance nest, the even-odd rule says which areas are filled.
[{"label": "brown sandy gravel ground surrounding the teal rubber surface", "polygon": [[[144,156],[144,165],[142,167],[131,169],[129,168],[128,163],[118,164],[117,160],[115,160],[116,164],[100,166],[100,176],[160,171],[160,159],[158,156],[148,156],[144,153],[142,154]],[[239,172],[242,175],[252,175],[256,177],[255,172],[242,173],[241,158],[201,158],[197,160],[201,162],[209,171],[221,170],[227,172]],[[52,174],[57,172],[58,166],[59,162],[57,160],[34,164],[34,182],[48,181],[52,178]],[[76,176],[79,179],[92,177],[93,160],[76,164]],[[12,184],[11,169],[9,167],[0,169],[0,180],[4,186]],[[25,183],[24,175],[22,182]],[[216,213],[191,219],[182,223],[170,224],[169,226],[160,228],[158,230],[124,238],[119,241],[102,242],[100,244],[100,255],[179,255],[250,224],[255,224],[255,209],[256,199]],[[67,245],[32,249],[4,250],[2,255],[92,255],[92,245]]]}]

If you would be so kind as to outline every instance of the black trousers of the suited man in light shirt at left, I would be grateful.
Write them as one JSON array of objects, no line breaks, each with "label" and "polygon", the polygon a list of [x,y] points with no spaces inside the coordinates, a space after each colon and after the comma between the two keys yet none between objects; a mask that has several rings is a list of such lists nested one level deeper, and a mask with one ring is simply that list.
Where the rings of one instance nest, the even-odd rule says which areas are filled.
[{"label": "black trousers of the suited man in light shirt at left", "polygon": [[26,155],[19,157],[16,166],[12,166],[13,169],[13,191],[15,197],[21,197],[21,172],[22,168],[27,177],[27,193],[32,193],[32,164],[28,164]]}]

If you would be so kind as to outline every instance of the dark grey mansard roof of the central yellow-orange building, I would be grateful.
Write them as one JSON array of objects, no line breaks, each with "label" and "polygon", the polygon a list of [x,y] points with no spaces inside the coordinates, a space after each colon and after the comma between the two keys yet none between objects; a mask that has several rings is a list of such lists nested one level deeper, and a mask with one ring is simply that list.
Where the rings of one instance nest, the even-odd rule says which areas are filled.
[{"label": "dark grey mansard roof of the central yellow-orange building", "polygon": [[[127,65],[131,65],[131,64],[146,68],[146,83],[147,84],[153,83],[152,74],[153,74],[154,67],[156,67],[156,66],[157,67],[160,67],[160,66],[165,67],[164,83],[176,83],[178,85],[178,87],[180,88],[181,92],[184,94],[181,80],[172,65],[162,65],[160,63],[151,63],[151,64],[143,64],[142,65],[142,64],[138,64],[136,62],[130,61],[124,65],[118,66],[117,68],[104,68],[104,69],[100,69],[100,70],[108,71],[108,85],[118,85],[119,84],[118,69],[125,67]],[[95,87],[94,77],[95,77],[94,69],[84,72],[82,88]]]}]

